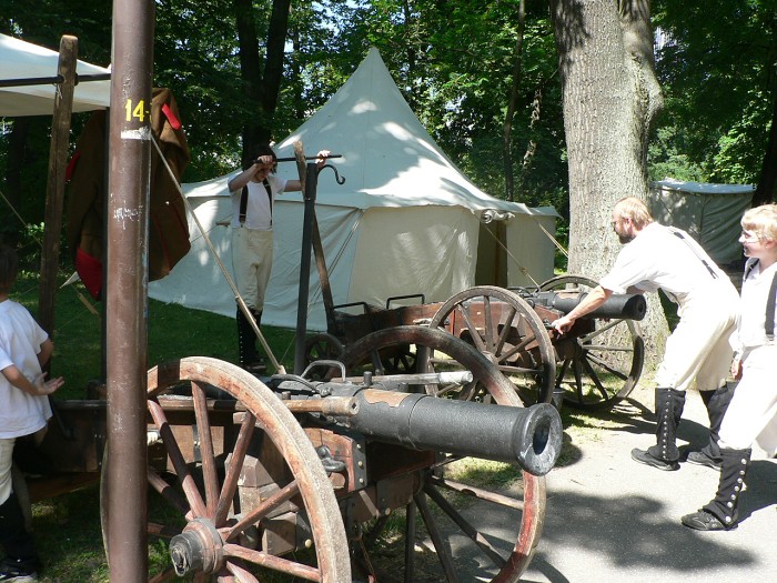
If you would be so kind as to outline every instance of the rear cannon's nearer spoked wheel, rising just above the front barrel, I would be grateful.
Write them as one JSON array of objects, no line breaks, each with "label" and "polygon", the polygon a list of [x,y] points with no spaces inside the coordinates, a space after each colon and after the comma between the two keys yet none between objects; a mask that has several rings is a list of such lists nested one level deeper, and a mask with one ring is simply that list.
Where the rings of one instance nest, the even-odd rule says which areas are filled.
[{"label": "rear cannon's nearer spoked wheel, rising just above the front barrel", "polygon": [[430,328],[447,330],[475,346],[509,379],[525,404],[552,402],[553,343],[545,324],[517,293],[491,285],[471,288],[441,305]]}]

